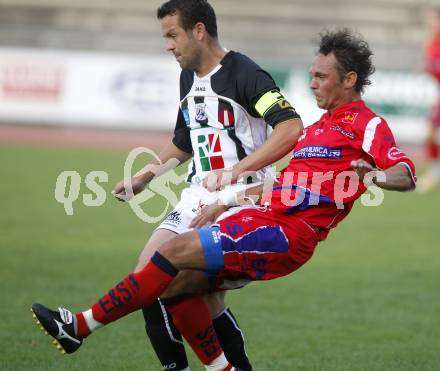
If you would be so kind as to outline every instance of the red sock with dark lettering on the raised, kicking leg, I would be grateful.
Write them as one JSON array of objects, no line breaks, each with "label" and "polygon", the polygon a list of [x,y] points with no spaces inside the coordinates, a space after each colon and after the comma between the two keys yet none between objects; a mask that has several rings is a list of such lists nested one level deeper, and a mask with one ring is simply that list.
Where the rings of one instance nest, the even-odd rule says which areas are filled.
[{"label": "red sock with dark lettering on the raised, kicking leg", "polygon": [[151,304],[168,287],[178,270],[160,253],[139,272],[130,273],[92,305],[76,314],[77,335],[86,337],[101,325],[115,321]]}]

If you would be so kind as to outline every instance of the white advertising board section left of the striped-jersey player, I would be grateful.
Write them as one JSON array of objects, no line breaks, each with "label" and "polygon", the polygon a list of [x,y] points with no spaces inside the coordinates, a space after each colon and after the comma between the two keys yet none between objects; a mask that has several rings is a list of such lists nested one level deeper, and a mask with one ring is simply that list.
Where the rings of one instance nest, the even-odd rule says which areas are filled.
[{"label": "white advertising board section left of the striped-jersey player", "polygon": [[0,49],[0,120],[171,130],[179,73],[171,57]]}]

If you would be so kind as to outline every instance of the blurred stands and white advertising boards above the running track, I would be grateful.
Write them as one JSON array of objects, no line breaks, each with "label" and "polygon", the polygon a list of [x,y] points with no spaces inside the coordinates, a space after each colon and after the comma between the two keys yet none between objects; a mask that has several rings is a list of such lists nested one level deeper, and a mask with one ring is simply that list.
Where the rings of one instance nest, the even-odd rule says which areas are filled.
[{"label": "blurred stands and white advertising boards above the running track", "polygon": [[[213,0],[220,40],[268,69],[309,124],[313,40],[350,27],[375,53],[366,100],[421,143],[435,83],[421,73],[432,0]],[[438,3],[438,1],[437,1]],[[0,0],[0,122],[169,131],[178,66],[152,0]]]}]

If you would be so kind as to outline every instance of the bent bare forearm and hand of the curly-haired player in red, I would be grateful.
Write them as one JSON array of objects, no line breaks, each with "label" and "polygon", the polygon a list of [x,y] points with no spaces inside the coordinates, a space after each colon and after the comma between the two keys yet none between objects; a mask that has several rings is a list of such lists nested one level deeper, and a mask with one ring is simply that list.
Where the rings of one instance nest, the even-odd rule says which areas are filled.
[{"label": "bent bare forearm and hand of the curly-haired player in red", "polygon": [[378,187],[389,191],[412,191],[416,188],[413,177],[404,163],[399,163],[386,170],[378,170],[365,160],[352,161],[353,170],[359,175],[360,180],[370,174],[370,179]]}]

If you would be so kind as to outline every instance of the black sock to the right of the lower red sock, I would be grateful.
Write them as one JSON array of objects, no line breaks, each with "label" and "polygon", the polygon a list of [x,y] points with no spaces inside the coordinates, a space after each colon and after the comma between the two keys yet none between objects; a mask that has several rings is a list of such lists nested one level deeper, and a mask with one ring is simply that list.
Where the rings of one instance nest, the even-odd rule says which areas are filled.
[{"label": "black sock to the right of the lower red sock", "polygon": [[243,333],[230,309],[226,308],[212,323],[226,359],[243,371],[252,371],[244,347]]}]

